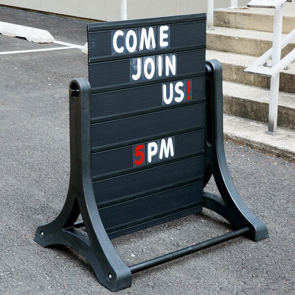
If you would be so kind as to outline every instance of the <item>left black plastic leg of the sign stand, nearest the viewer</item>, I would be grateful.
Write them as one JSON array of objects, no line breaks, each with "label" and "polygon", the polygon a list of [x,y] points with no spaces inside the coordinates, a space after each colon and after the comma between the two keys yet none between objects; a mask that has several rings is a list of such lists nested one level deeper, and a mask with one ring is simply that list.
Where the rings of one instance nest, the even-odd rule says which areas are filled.
[{"label": "left black plastic leg of the sign stand, nearest the viewer", "polygon": [[[119,257],[101,222],[90,171],[90,85],[86,79],[70,84],[71,175],[67,199],[59,216],[39,226],[35,241],[44,247],[65,245],[92,266],[98,281],[111,291],[131,286],[131,271]],[[74,227],[81,212],[86,231]]]}]

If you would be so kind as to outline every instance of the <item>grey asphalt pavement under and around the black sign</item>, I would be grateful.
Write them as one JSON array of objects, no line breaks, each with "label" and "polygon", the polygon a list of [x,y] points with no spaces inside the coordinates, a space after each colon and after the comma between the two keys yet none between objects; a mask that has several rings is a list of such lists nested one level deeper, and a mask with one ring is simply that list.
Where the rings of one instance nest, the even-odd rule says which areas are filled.
[{"label": "grey asphalt pavement under and around the black sign", "polygon": [[[82,21],[7,7],[0,7],[0,21],[46,29],[71,44],[87,41]],[[0,35],[0,53],[57,46]],[[112,294],[75,251],[33,240],[37,226],[52,221],[66,198],[68,86],[80,77],[88,77],[87,55],[77,48],[0,55],[0,294]],[[117,294],[295,294],[295,163],[229,141],[225,149],[237,190],[270,237],[239,237],[139,272]],[[216,190],[213,181],[207,190]],[[112,241],[130,265],[229,229],[204,209]]]}]

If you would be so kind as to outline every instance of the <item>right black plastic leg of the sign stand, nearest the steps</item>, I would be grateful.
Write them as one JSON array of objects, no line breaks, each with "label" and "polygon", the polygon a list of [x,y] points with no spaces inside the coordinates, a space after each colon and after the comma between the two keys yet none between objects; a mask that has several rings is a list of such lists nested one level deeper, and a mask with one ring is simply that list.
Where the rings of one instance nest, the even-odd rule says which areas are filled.
[{"label": "right black plastic leg of the sign stand, nearest the steps", "polygon": [[266,225],[241,200],[230,175],[223,146],[223,92],[222,66],[216,60],[207,64],[207,123],[205,138],[204,186],[213,175],[220,196],[204,193],[204,207],[211,209],[226,220],[234,229],[248,227],[245,236],[254,241],[268,237]]}]

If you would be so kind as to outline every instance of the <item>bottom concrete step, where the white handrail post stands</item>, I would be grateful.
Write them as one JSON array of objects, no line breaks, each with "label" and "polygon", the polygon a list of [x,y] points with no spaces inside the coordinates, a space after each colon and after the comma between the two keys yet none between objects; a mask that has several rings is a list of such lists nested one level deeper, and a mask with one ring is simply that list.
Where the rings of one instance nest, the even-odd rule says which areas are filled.
[{"label": "bottom concrete step, where the white handrail post stands", "polygon": [[267,124],[224,114],[224,138],[260,151],[295,161],[295,131],[278,127],[266,134]]}]

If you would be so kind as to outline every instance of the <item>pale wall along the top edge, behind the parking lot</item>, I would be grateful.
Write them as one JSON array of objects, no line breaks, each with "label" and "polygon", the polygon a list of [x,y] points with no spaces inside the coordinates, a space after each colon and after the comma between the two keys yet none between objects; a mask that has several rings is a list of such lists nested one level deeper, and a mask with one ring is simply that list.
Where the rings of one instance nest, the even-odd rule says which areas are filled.
[{"label": "pale wall along the top edge, behind the parking lot", "polygon": [[[240,6],[249,0],[239,0]],[[215,0],[215,8],[230,0]],[[121,0],[0,0],[0,4],[102,21],[120,20]],[[206,0],[127,0],[127,18],[138,19],[206,12]]]}]

